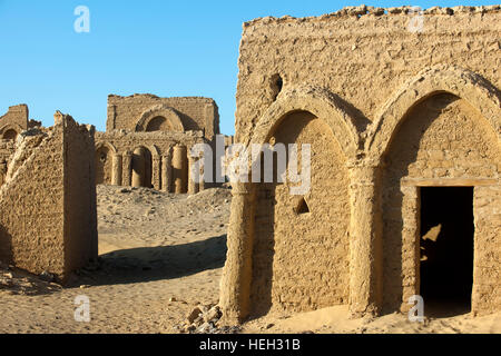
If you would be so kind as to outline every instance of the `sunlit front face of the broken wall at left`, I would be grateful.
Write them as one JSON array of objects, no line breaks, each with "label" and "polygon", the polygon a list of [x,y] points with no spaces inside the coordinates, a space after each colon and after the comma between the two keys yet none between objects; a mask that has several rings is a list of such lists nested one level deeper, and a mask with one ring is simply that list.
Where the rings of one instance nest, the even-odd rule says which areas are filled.
[{"label": "sunlit front face of the broken wall at left", "polygon": [[0,188],[0,259],[36,274],[65,273],[62,129],[26,136]]}]

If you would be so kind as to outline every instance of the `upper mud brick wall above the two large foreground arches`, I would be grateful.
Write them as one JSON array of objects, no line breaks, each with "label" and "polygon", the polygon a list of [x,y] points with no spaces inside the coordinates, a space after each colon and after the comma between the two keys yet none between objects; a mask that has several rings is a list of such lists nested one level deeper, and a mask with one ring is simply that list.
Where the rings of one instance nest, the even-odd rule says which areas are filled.
[{"label": "upper mud brick wall above the two large foreground arches", "polygon": [[501,13],[497,7],[441,10],[424,11],[422,31],[410,30],[416,14],[402,10],[386,14],[342,10],[316,18],[244,23],[236,141],[250,137],[276,99],[278,76],[282,90],[307,85],[328,88],[356,108],[357,117],[371,121],[397,88],[433,65],[470,69],[500,88]]}]

